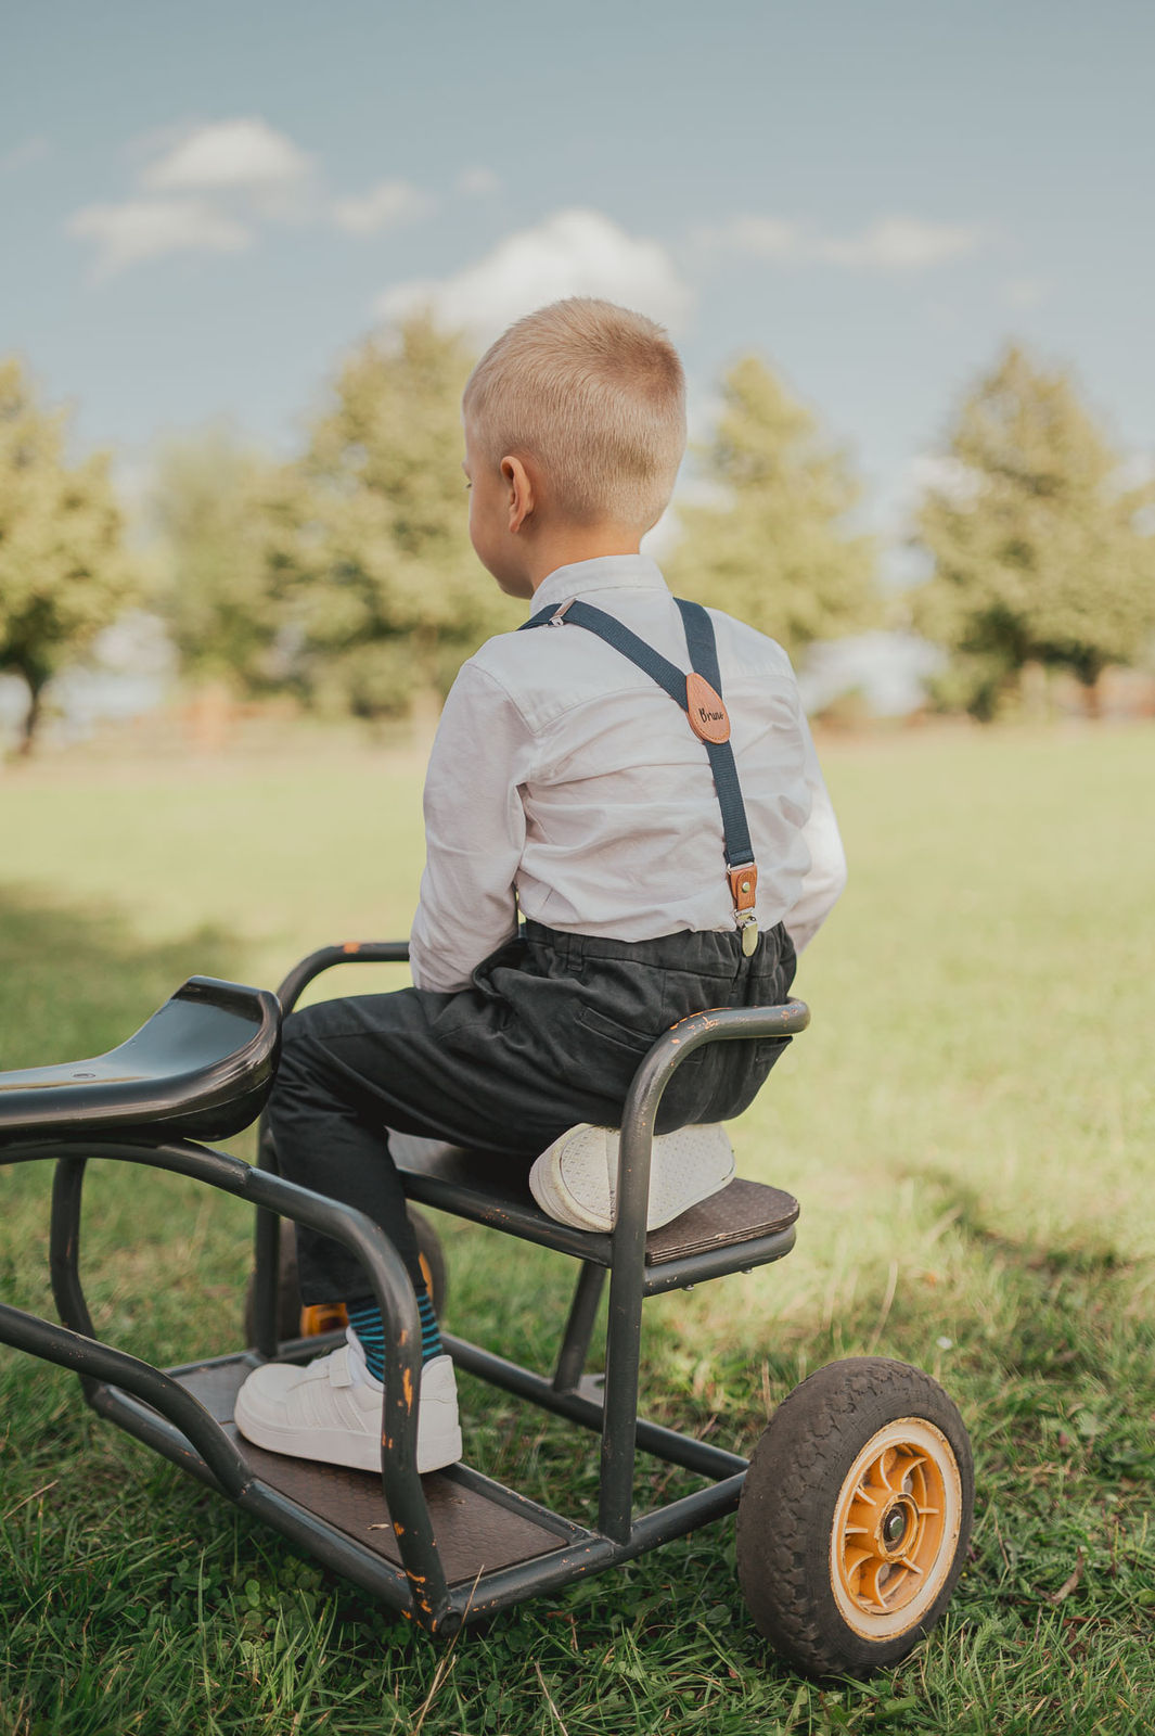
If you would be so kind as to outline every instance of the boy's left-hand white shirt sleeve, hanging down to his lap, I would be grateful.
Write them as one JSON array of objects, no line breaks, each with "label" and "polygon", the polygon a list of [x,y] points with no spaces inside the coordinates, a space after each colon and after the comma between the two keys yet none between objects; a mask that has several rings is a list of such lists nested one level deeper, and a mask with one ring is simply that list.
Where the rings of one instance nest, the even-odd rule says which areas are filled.
[{"label": "boy's left-hand white shirt sleeve, hanging down to his lap", "polygon": [[517,930],[513,880],[525,845],[520,785],[531,734],[491,675],[465,663],[440,713],[425,776],[425,873],[409,967],[451,993]]}]

